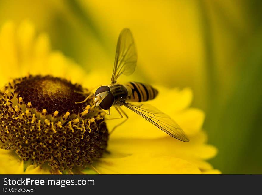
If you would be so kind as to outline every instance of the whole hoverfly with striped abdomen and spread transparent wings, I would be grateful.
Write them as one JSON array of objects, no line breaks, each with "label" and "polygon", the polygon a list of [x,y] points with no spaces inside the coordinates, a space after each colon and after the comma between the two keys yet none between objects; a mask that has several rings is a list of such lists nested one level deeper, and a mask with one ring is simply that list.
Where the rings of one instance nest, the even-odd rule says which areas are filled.
[{"label": "whole hoverfly with striped abdomen and spread transparent wings", "polygon": [[[172,137],[183,142],[188,142],[189,140],[184,131],[168,115],[149,104],[136,103],[154,99],[158,94],[158,91],[155,88],[151,85],[139,82],[129,82],[125,85],[116,84],[117,78],[121,74],[129,76],[135,71],[136,62],[137,51],[133,36],[128,28],[124,28],[118,37],[111,84],[108,86],[101,86],[96,90],[94,99],[95,106],[100,106],[102,109],[108,110],[109,115],[110,108],[114,106],[120,114],[120,118],[123,118],[123,115],[126,117],[122,122],[124,123],[128,118],[126,113],[120,107],[124,105]],[[85,100],[89,97],[90,96]],[[82,102],[85,102],[85,100]],[[117,126],[115,126],[114,129]]]}]

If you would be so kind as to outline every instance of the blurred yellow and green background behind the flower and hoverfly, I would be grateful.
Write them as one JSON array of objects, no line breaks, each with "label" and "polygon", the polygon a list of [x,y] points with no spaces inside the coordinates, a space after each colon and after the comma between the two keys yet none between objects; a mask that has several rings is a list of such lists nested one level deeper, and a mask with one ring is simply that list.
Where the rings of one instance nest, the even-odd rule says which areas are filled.
[{"label": "blurred yellow and green background behind the flower and hoverfly", "polygon": [[[110,81],[118,34],[138,65],[124,81],[191,87],[224,174],[262,174],[262,1],[0,1],[0,24],[31,21],[52,48]],[[110,72],[110,74],[108,73]],[[98,84],[99,78],[95,81]],[[168,93],[168,91],[167,91]]]}]

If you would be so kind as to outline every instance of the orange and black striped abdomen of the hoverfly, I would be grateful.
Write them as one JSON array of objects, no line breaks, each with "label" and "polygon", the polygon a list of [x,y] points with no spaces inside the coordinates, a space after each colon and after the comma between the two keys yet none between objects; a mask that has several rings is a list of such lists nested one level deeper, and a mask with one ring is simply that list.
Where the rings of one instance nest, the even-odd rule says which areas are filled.
[{"label": "orange and black striped abdomen of the hoverfly", "polygon": [[144,83],[129,82],[125,86],[132,89],[132,93],[129,96],[129,101],[131,102],[144,102],[154,99],[158,94],[158,91],[155,88]]}]

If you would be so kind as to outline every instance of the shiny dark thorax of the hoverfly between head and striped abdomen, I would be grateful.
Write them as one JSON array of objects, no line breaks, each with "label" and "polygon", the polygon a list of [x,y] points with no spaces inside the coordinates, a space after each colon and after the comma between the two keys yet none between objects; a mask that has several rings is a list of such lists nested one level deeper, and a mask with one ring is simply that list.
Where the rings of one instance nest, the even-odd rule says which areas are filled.
[{"label": "shiny dark thorax of the hoverfly between head and striped abdomen", "polygon": [[111,93],[115,98],[114,104],[122,105],[128,99],[128,91],[124,85],[111,85],[109,86]]}]

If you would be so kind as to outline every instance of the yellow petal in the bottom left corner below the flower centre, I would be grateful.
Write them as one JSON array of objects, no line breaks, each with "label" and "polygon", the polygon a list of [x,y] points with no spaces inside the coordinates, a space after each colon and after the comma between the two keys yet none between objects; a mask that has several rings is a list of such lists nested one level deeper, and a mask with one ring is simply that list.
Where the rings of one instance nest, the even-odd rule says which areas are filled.
[{"label": "yellow petal in the bottom left corner below the flower centre", "polygon": [[10,150],[0,149],[0,174],[22,174],[24,163]]}]

